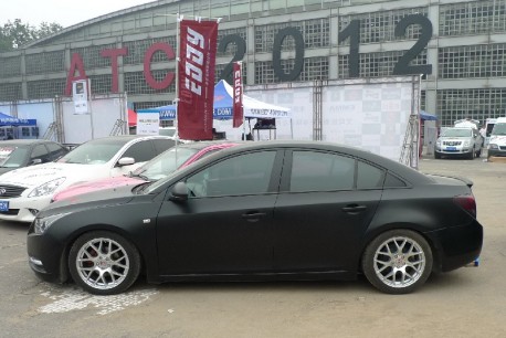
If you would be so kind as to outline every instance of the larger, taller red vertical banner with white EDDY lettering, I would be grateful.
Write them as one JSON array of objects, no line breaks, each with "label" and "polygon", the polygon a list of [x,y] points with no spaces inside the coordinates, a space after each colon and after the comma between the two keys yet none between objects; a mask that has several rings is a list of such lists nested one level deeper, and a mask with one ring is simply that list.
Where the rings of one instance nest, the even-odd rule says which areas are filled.
[{"label": "larger, taller red vertical banner with white EDDY lettering", "polygon": [[212,139],[218,22],[181,20],[179,36],[179,137]]}]

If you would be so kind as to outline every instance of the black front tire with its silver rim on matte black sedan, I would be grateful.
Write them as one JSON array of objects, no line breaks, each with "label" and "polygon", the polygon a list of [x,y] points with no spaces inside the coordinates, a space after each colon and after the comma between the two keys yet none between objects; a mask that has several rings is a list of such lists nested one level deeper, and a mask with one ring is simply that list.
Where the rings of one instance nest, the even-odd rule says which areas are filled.
[{"label": "black front tire with its silver rim on matte black sedan", "polygon": [[140,255],[123,236],[109,231],[92,231],[72,245],[68,270],[74,282],[88,293],[114,295],[125,292],[137,279]]}]

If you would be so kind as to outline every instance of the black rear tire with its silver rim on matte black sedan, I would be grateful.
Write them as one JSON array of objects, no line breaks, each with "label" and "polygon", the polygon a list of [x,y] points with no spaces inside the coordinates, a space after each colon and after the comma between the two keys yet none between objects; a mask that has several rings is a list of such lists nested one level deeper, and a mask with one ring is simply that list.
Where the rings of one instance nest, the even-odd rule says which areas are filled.
[{"label": "black rear tire with its silver rim on matte black sedan", "polygon": [[394,295],[409,294],[422,286],[432,264],[432,250],[425,239],[403,229],[383,232],[369,243],[362,255],[362,271],[369,283]]}]

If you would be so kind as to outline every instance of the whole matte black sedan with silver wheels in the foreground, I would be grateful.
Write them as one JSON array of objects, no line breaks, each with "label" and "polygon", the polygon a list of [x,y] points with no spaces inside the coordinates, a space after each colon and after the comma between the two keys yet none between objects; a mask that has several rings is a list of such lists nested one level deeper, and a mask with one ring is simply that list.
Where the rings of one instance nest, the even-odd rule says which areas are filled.
[{"label": "whole matte black sedan with silver wheels in the foreground", "polygon": [[472,184],[333,144],[249,142],[154,183],[51,204],[30,226],[29,262],[98,295],[141,272],[151,283],[363,273],[404,294],[478,257]]}]

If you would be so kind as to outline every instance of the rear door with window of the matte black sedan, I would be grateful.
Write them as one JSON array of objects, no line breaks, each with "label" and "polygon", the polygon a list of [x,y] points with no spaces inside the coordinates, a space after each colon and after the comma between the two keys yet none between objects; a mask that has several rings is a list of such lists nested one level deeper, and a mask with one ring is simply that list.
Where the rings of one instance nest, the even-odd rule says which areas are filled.
[{"label": "rear door with window of the matte black sedan", "polygon": [[357,266],[384,170],[334,152],[288,151],[274,209],[274,264],[282,272]]}]

